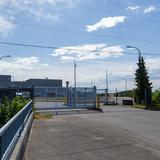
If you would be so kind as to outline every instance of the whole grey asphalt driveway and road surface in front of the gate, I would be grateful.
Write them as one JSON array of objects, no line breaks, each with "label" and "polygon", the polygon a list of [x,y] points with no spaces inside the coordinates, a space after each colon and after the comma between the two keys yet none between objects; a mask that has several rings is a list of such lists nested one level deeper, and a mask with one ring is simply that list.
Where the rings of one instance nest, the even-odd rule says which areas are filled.
[{"label": "whole grey asphalt driveway and road surface in front of the gate", "polygon": [[160,112],[116,106],[35,120],[25,159],[159,160],[159,122]]}]

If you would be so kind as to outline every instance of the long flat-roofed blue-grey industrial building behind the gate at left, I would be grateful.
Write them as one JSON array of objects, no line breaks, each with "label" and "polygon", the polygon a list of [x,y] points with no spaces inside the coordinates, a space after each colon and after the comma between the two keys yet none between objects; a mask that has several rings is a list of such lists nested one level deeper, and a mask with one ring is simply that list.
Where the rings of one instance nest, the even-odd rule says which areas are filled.
[{"label": "long flat-roofed blue-grey industrial building behind the gate at left", "polygon": [[22,93],[26,97],[55,95],[55,88],[62,88],[60,79],[28,79],[11,81],[10,75],[0,75],[0,99]]}]

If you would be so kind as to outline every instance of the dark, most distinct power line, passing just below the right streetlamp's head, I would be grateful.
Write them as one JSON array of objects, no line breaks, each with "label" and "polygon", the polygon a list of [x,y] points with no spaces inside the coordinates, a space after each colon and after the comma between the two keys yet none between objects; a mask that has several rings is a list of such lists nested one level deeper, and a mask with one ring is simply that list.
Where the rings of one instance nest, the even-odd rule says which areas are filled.
[{"label": "dark, most distinct power line, passing just below the right streetlamp's head", "polygon": [[[13,42],[2,42],[0,41],[0,44],[4,45],[12,45],[12,46],[20,46],[20,47],[32,47],[32,48],[43,48],[43,49],[64,49],[64,50],[69,50],[69,51],[82,51],[82,52],[93,52],[93,53],[99,53],[99,52],[107,52],[104,50],[84,50],[84,49],[77,49],[77,48],[67,48],[67,47],[55,47],[55,46],[44,46],[44,45],[35,45],[35,44],[22,44],[22,43],[13,43]],[[103,49],[103,48],[102,48]],[[108,53],[122,53],[122,54],[134,54],[130,52],[108,52]],[[143,55],[155,55],[159,56],[160,54],[158,53],[143,53]]]}]

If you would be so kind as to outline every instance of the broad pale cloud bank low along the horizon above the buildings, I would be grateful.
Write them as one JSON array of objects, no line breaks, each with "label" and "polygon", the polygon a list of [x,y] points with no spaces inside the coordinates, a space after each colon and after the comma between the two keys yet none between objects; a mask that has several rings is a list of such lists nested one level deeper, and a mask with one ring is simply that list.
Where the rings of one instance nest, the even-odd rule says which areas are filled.
[{"label": "broad pale cloud bank low along the horizon above the buildings", "polygon": [[[99,44],[99,48],[102,46],[103,44]],[[124,78],[128,81],[128,89],[132,89],[134,87],[134,73],[137,69],[136,60],[137,59],[135,58],[132,61],[123,59],[118,59],[118,61],[78,61],[77,85],[79,86],[81,84],[82,86],[83,84],[83,86],[90,87],[92,79],[93,84],[98,88],[105,88],[105,70],[107,68],[108,72],[112,73],[112,75],[108,77],[110,91],[114,91],[115,88],[118,88],[118,90],[124,90]],[[160,80],[154,78],[155,75],[160,73],[159,61],[160,58],[145,59],[146,66],[149,68],[150,79],[153,82],[153,86],[156,88],[158,88],[160,84]],[[38,57],[15,58],[12,61],[5,61],[4,59],[1,61],[1,73],[14,75],[15,80],[48,77],[63,79],[64,85],[65,81],[69,80],[70,85],[73,85],[72,69],[73,61],[63,64],[54,63],[54,65],[52,63],[50,65],[41,63]]]}]

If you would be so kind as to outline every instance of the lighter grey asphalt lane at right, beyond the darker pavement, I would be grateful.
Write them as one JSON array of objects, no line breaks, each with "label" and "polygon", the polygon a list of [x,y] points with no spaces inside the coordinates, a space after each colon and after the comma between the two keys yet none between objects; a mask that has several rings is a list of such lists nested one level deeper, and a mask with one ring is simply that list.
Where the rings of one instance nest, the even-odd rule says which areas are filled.
[{"label": "lighter grey asphalt lane at right, beyond the darker pavement", "polygon": [[103,115],[92,115],[92,118],[160,143],[160,112],[118,106],[105,106],[103,110]]}]

